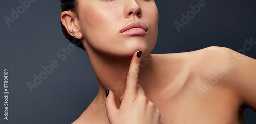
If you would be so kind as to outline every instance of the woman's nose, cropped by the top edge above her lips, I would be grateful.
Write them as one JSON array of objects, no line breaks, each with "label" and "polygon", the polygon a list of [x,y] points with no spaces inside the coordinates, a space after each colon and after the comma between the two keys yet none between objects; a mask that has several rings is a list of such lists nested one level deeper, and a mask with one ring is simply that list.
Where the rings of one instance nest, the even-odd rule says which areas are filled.
[{"label": "woman's nose, cropped by the top edge above her lips", "polygon": [[142,16],[142,11],[140,5],[136,2],[136,0],[129,0],[126,1],[125,8],[124,8],[124,16],[126,18],[137,16]]}]

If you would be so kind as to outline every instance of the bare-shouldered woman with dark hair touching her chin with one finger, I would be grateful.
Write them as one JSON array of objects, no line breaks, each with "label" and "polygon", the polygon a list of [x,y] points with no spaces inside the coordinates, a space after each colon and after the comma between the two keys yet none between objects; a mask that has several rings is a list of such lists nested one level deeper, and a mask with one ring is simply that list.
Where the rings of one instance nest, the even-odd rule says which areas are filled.
[{"label": "bare-shouldered woman with dark hair touching her chin with one finger", "polygon": [[243,123],[243,110],[256,110],[256,60],[223,47],[150,54],[153,0],[61,3],[63,33],[80,39],[73,43],[87,51],[99,84],[74,123]]}]

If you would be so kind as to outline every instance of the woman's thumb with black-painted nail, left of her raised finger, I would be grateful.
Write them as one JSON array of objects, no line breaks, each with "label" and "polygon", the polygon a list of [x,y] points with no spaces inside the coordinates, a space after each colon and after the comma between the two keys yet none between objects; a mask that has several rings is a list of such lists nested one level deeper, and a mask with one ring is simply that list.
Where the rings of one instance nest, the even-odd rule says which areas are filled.
[{"label": "woman's thumb with black-painted nail, left of her raised finger", "polygon": [[108,115],[109,121],[116,117],[118,109],[116,106],[116,98],[111,90],[106,90],[106,114]]}]

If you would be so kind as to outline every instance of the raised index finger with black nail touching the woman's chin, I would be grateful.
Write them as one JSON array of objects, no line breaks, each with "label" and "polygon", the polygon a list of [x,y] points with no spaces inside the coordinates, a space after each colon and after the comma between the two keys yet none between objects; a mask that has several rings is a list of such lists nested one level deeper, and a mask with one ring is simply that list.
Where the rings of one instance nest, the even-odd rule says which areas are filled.
[{"label": "raised index finger with black nail touching the woman's chin", "polygon": [[136,53],[134,53],[130,63],[125,89],[125,92],[129,92],[129,94],[135,94],[137,92],[141,55],[141,51],[137,51]]}]

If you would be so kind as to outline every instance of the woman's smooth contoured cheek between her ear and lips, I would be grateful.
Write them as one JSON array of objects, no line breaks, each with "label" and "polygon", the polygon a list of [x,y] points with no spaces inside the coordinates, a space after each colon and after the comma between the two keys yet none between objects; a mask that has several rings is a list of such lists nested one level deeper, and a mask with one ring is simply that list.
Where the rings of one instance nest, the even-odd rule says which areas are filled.
[{"label": "woman's smooth contoured cheek between her ear and lips", "polygon": [[113,44],[113,38],[118,32],[117,15],[108,8],[108,6],[97,5],[84,7],[81,11],[79,21],[83,35],[88,45],[97,50],[108,51],[109,44]]}]

